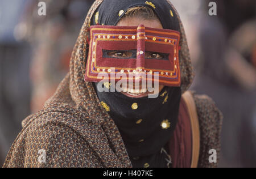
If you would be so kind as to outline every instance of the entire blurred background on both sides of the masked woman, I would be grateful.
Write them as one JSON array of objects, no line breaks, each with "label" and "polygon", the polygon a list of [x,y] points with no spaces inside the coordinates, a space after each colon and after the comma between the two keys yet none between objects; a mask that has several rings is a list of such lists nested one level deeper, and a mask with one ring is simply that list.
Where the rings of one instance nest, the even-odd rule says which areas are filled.
[{"label": "entire blurred background on both sides of the masked woman", "polygon": [[[256,167],[256,1],[170,0],[188,37],[196,78],[191,90],[224,114],[219,167]],[[42,109],[69,70],[93,0],[0,0],[0,166],[21,122]]]}]

